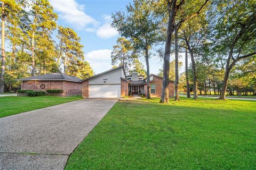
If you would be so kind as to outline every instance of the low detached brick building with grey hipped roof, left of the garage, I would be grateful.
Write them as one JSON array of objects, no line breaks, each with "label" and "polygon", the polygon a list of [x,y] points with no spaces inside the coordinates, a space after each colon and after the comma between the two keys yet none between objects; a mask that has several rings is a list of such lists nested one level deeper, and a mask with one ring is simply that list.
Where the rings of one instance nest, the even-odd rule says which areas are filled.
[{"label": "low detached brick building with grey hipped roof, left of the garage", "polygon": [[50,73],[35,77],[18,79],[22,81],[21,90],[62,90],[62,97],[82,94],[81,79],[64,73]]}]

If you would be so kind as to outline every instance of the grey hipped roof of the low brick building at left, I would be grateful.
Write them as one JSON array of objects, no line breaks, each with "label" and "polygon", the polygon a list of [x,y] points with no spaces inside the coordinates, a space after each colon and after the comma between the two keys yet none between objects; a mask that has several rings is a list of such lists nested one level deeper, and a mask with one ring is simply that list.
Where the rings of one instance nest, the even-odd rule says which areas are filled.
[{"label": "grey hipped roof of the low brick building at left", "polygon": [[42,74],[37,75],[34,77],[29,78],[21,78],[17,79],[21,81],[47,81],[47,80],[59,80],[59,81],[73,81],[73,82],[79,82],[81,79],[75,77],[74,75],[67,75],[65,73],[49,73],[49,74]]}]

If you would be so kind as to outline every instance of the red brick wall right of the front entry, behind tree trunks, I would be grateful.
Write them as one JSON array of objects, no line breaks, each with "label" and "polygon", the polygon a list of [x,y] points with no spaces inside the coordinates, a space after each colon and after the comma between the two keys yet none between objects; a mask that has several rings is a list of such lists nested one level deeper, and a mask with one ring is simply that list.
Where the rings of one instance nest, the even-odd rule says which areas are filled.
[{"label": "red brick wall right of the front entry, behind tree trunks", "polygon": [[[163,87],[163,79],[154,76],[153,77],[153,81],[150,82],[150,85],[151,84],[155,84],[156,85],[156,93],[155,94],[150,94],[150,97],[161,97],[162,89],[163,89],[162,88]],[[144,88],[145,88],[145,95],[147,95],[147,84],[145,84]],[[174,83],[170,82],[169,83],[169,97],[173,97],[173,96],[174,96]]]}]

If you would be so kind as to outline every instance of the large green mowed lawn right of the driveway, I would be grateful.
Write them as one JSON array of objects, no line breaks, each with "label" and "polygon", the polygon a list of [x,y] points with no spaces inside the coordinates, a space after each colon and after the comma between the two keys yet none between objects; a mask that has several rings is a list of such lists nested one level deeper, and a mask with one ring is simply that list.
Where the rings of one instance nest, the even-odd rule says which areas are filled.
[{"label": "large green mowed lawn right of the driveway", "polygon": [[66,169],[255,169],[256,101],[118,101]]}]

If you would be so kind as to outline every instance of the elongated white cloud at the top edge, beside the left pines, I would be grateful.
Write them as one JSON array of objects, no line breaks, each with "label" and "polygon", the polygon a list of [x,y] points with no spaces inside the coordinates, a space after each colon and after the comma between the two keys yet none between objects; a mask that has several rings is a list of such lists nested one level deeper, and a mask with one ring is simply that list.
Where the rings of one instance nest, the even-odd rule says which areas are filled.
[{"label": "elongated white cloud at the top edge, beside the left pines", "polygon": [[90,15],[85,14],[84,5],[79,5],[75,0],[50,0],[50,3],[61,19],[78,29],[84,29],[89,24],[99,24]]}]

